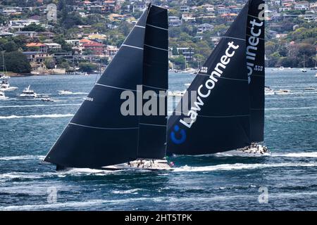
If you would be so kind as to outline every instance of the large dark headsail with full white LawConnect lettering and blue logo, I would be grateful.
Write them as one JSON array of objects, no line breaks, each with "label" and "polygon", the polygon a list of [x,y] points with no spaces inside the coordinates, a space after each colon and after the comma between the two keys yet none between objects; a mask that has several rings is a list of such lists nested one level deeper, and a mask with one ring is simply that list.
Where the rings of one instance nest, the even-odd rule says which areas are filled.
[{"label": "large dark headsail with full white LawConnect lettering and blue logo", "polygon": [[[185,103],[185,94],[168,119],[168,153],[218,153],[251,143],[245,44],[248,9],[249,2],[187,89],[189,96],[197,91],[194,103]],[[182,110],[181,104],[189,111]]]}]

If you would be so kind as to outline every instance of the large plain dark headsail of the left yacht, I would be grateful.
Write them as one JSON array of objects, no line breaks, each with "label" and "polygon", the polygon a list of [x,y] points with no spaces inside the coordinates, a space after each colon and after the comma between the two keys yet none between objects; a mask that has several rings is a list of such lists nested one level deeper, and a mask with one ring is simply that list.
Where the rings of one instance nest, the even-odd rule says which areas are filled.
[{"label": "large plain dark headsail of the left yacht", "polygon": [[144,11],[46,155],[46,162],[61,167],[98,168],[137,158],[140,118],[122,114],[120,107],[124,100],[120,95],[126,90],[137,93],[137,85],[143,82],[144,35],[151,8]]}]

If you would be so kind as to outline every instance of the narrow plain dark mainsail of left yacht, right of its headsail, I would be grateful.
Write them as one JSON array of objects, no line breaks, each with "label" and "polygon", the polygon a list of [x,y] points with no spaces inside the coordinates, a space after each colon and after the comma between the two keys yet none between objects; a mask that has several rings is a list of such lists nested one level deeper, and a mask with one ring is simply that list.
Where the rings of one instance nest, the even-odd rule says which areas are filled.
[{"label": "narrow plain dark mainsail of left yacht, right of its headsail", "polygon": [[[157,6],[151,6],[147,17],[142,85],[143,93],[154,91],[159,97],[154,98],[157,110],[140,117],[137,157],[161,159],[166,155],[167,98],[162,92],[168,89],[168,14]],[[161,108],[156,99],[163,101]]]}]

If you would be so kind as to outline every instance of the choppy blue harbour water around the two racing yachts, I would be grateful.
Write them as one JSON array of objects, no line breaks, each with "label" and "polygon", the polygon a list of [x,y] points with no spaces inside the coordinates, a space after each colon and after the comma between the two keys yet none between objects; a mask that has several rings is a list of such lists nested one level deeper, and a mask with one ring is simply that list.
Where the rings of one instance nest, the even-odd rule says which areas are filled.
[{"label": "choppy blue harbour water around the two racing yachts", "polygon": [[[317,210],[314,75],[267,70],[266,85],[291,91],[266,96],[271,156],[177,156],[171,159],[173,172],[104,173],[55,172],[39,165],[96,76],[13,77],[11,86],[19,89],[0,101],[0,210]],[[193,77],[170,74],[170,89],[185,89]],[[56,101],[15,99],[29,84]],[[307,86],[316,91],[304,91]],[[58,95],[63,89],[74,94]],[[267,188],[268,203],[259,203],[260,187]]]}]

